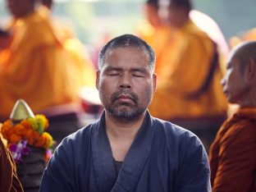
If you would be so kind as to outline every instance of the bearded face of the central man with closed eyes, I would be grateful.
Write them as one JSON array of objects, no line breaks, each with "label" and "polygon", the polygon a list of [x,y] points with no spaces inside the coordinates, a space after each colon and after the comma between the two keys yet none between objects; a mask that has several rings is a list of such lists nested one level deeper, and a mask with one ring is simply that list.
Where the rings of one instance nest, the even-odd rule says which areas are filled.
[{"label": "bearded face of the central man with closed eyes", "polygon": [[149,58],[139,48],[113,48],[106,54],[96,82],[103,106],[112,117],[135,119],[149,107],[156,87]]}]

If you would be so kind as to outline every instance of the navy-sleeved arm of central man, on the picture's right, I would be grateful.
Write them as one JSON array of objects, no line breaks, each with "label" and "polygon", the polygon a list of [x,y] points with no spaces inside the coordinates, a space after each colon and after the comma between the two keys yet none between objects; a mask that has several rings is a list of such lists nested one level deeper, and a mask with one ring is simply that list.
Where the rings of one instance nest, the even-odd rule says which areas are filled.
[{"label": "navy-sleeved arm of central man, on the picture's right", "polygon": [[210,192],[210,168],[208,156],[201,141],[194,135],[188,139],[185,133],[181,139],[180,159],[181,163],[176,178],[176,192]]}]

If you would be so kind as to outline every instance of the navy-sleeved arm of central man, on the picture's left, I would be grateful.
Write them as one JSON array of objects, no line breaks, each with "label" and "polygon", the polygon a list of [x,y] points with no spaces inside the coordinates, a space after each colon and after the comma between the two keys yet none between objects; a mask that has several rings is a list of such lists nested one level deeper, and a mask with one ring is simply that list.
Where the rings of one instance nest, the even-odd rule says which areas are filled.
[{"label": "navy-sleeved arm of central man, on the picture's left", "polygon": [[68,140],[64,140],[53,153],[43,171],[40,192],[75,191],[73,151]]}]

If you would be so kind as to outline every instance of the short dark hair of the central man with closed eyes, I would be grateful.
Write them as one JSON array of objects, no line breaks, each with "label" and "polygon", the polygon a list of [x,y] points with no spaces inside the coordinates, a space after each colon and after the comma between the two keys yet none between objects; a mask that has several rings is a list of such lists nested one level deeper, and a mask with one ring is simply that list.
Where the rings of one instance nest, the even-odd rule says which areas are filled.
[{"label": "short dark hair of the central man with closed eyes", "polygon": [[114,48],[139,48],[149,57],[149,67],[151,71],[154,71],[156,56],[153,51],[153,48],[149,46],[143,39],[139,39],[133,34],[123,34],[112,40],[110,40],[104,47],[101,49],[98,54],[98,70],[101,71],[104,63],[106,62],[106,54],[108,50]]}]

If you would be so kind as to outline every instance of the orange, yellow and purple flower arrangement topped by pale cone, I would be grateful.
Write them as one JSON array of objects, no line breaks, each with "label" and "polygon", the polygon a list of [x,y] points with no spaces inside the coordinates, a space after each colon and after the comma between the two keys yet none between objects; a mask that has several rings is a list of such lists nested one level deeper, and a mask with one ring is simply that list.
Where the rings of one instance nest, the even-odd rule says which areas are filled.
[{"label": "orange, yellow and purple flower arrangement topped by pale cone", "polygon": [[16,162],[30,155],[32,148],[44,150],[44,160],[47,161],[53,145],[53,137],[45,132],[48,126],[48,119],[44,115],[34,116],[25,101],[19,99],[12,109],[10,119],[2,123],[0,130]]}]

